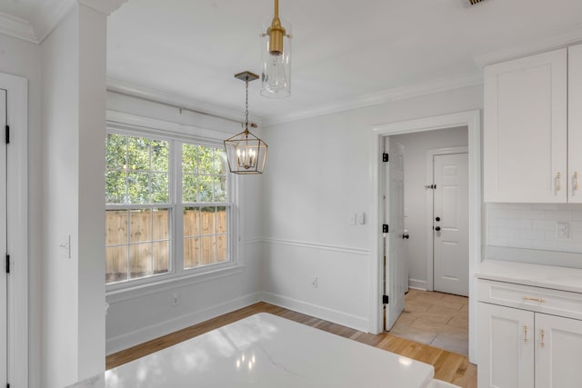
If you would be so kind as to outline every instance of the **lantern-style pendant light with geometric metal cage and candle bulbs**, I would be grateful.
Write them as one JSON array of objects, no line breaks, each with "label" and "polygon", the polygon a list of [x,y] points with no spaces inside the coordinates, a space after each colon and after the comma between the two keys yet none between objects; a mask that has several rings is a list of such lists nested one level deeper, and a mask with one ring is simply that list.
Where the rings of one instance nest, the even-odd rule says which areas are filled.
[{"label": "lantern-style pendant light with geometric metal cage and candle bulbs", "polygon": [[248,83],[255,81],[258,75],[243,72],[235,77],[245,81],[246,85],[245,131],[235,134],[224,142],[228,168],[234,174],[263,174],[268,145],[248,132]]}]

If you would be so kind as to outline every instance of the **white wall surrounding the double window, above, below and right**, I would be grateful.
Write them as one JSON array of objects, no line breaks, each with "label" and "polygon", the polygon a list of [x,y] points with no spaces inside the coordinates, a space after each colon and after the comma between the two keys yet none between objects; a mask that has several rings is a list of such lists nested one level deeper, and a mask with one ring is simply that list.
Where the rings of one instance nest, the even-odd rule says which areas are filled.
[{"label": "white wall surrounding the double window, above, below and right", "polygon": [[[240,124],[187,111],[179,114],[176,108],[114,93],[107,96],[107,108],[115,112],[183,124],[186,129],[191,126],[191,131],[195,134],[195,127],[203,127],[212,130],[221,139],[242,131]],[[260,212],[263,177],[246,175],[236,179],[239,189],[237,219],[240,233],[237,257],[244,267],[235,274],[204,282],[192,279],[150,289],[156,292],[144,290],[107,294],[106,300],[110,306],[106,316],[106,353],[115,353],[260,300],[258,292],[262,289]],[[178,294],[180,301],[176,306],[171,305],[174,293]]]}]

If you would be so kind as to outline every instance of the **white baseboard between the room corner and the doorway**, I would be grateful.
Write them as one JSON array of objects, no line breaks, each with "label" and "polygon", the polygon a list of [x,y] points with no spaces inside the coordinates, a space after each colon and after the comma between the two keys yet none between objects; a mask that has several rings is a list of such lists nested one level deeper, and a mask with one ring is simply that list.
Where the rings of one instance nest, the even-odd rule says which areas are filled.
[{"label": "white baseboard between the room corner and the doorway", "polygon": [[276,293],[261,293],[263,302],[275,304],[297,313],[305,313],[325,321],[341,324],[352,329],[366,332],[369,329],[369,321],[366,317],[357,316],[350,313],[344,313],[327,307],[319,306],[313,303],[298,301]]}]

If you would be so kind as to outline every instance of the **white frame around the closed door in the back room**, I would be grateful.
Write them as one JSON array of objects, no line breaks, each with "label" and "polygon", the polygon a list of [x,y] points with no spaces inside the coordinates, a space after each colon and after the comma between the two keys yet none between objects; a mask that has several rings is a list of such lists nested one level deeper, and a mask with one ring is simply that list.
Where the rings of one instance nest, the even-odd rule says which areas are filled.
[{"label": "white frame around the closed door in the back room", "polygon": [[[446,154],[469,154],[469,147],[445,147],[426,151],[426,176],[433,176],[434,180],[434,157]],[[434,184],[434,182],[426,182],[426,184]],[[435,216],[434,195],[434,190],[426,190],[426,291],[435,290],[435,245],[433,243],[435,234],[430,227]]]}]

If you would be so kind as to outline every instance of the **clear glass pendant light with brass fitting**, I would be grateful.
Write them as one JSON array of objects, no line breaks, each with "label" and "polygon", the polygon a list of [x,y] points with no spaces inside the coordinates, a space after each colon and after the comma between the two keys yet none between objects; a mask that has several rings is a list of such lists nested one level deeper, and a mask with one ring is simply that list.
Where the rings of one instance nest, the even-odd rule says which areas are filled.
[{"label": "clear glass pendant light with brass fitting", "polygon": [[266,20],[261,34],[261,95],[281,98],[291,95],[291,23],[279,17],[279,0],[275,15]]}]

